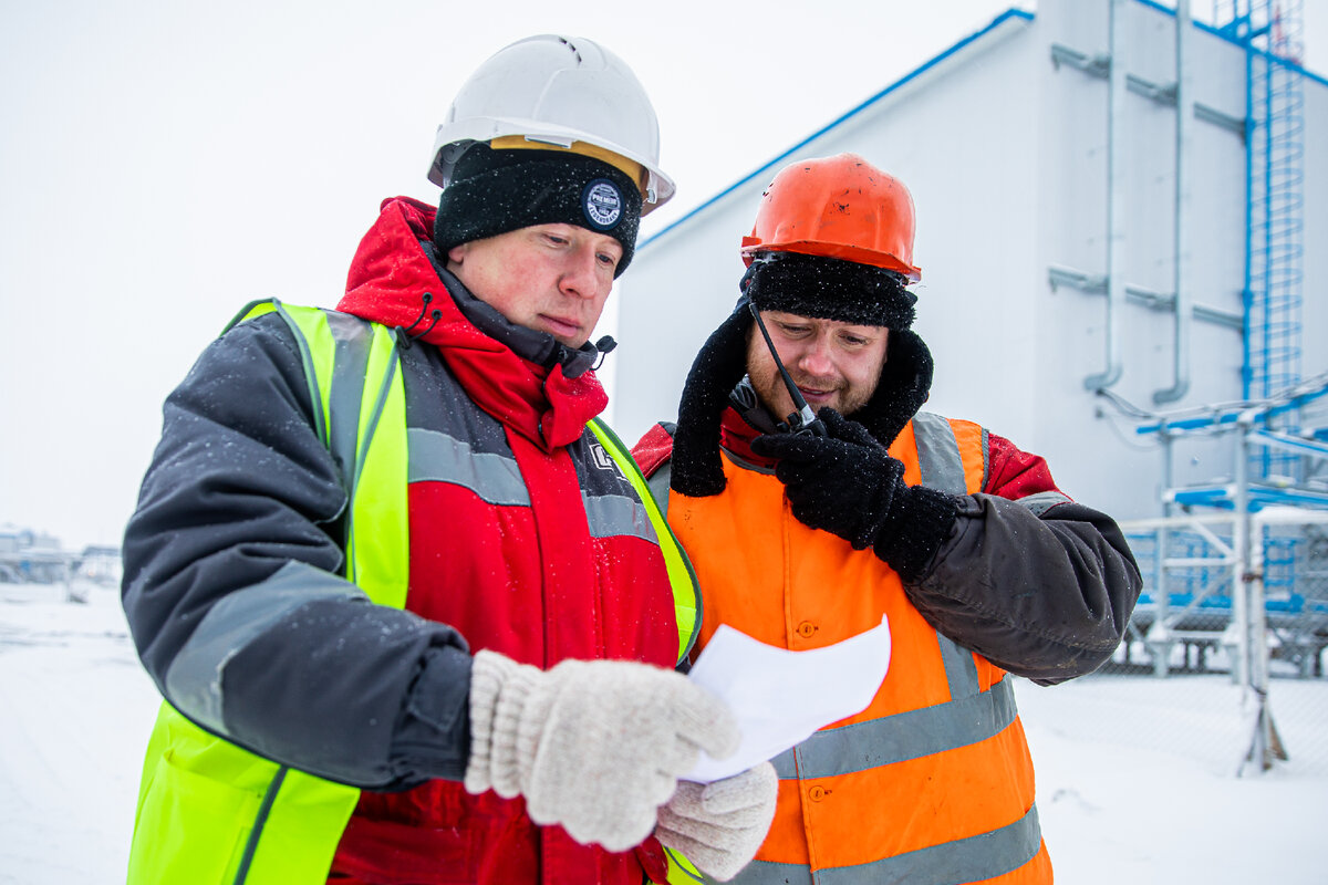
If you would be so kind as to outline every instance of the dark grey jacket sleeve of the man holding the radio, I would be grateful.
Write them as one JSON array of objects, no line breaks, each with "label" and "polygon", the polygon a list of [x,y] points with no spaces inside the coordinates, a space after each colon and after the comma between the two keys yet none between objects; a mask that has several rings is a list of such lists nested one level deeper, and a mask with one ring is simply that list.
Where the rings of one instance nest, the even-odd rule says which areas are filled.
[{"label": "dark grey jacket sleeve of the man holding the radio", "polygon": [[904,585],[923,617],[1040,685],[1101,666],[1142,586],[1116,523],[1068,502],[1038,511],[995,495],[957,500],[959,517],[931,567]]}]

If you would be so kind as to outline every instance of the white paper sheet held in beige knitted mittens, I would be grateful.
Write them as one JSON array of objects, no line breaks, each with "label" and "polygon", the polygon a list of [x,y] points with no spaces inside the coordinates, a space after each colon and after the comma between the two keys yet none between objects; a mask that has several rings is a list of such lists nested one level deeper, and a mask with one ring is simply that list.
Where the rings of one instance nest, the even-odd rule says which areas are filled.
[{"label": "white paper sheet held in beige knitted mittens", "polygon": [[724,624],[689,678],[718,695],[742,730],[726,759],[703,752],[684,780],[710,783],[746,771],[806,740],[817,728],[862,713],[890,669],[890,624],[822,649],[789,651]]}]

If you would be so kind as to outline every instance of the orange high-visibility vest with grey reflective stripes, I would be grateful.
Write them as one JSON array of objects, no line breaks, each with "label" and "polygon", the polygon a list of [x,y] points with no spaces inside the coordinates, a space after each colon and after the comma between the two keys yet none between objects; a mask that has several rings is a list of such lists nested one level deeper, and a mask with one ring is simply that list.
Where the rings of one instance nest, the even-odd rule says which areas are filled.
[{"label": "orange high-visibility vest with grey reflective stripes", "polygon": [[[919,414],[890,454],[904,482],[981,490],[985,433]],[[725,452],[728,487],[669,495],[668,520],[704,594],[704,646],[720,624],[815,649],[890,618],[890,671],[861,714],[774,759],[770,833],[737,882],[1046,884],[1033,766],[1011,679],[923,620],[870,549],[794,519],[769,470]]]}]

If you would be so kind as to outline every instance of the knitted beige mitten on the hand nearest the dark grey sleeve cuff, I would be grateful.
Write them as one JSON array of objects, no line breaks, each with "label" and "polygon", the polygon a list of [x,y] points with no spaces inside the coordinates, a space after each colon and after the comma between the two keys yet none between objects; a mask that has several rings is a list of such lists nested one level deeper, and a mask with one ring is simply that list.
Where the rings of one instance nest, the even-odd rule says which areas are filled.
[{"label": "knitted beige mitten on the hand nearest the dark grey sleeve cuff", "polygon": [[628,661],[551,670],[475,654],[470,677],[473,793],[526,797],[537,824],[562,824],[608,851],[640,844],[700,750],[738,744],[728,707],[685,677]]}]

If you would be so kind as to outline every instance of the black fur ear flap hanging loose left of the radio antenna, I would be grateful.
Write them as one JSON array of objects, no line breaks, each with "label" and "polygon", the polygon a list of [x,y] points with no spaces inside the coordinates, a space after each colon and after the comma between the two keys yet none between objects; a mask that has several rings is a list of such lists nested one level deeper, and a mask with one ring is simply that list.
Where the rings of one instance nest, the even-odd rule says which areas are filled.
[{"label": "black fur ear flap hanging loose left of the radio antenna", "polygon": [[689,498],[724,491],[720,460],[720,422],[729,394],[746,374],[746,345],[752,312],[745,297],[696,354],[683,385],[673,434],[672,488]]}]

